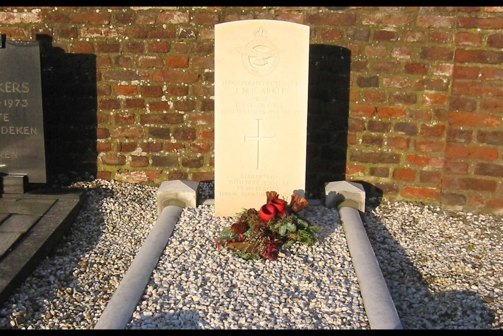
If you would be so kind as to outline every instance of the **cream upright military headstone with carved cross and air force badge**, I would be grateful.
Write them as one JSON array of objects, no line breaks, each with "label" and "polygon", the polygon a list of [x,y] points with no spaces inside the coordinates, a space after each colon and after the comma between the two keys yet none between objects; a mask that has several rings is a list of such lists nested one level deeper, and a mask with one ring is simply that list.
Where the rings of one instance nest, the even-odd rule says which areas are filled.
[{"label": "cream upright military headstone with carved cross and air force badge", "polygon": [[215,26],[215,216],[304,191],[308,60],[308,26]]}]

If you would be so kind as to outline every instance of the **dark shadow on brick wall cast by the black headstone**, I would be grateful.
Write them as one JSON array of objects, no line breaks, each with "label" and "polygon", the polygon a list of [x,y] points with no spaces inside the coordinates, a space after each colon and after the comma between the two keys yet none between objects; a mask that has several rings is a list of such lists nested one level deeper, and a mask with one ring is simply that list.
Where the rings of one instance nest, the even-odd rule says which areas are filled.
[{"label": "dark shadow on brick wall cast by the black headstone", "polygon": [[96,55],[68,54],[40,42],[47,181],[74,173],[96,176]]}]

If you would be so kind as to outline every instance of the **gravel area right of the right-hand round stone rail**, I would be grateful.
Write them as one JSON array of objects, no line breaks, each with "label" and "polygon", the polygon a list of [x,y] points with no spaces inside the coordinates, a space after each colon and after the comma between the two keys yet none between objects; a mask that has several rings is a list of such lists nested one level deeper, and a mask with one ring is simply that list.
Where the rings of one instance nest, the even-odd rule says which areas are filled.
[{"label": "gravel area right of the right-hand round stone rail", "polygon": [[383,200],[364,226],[404,328],[503,328],[503,221]]}]

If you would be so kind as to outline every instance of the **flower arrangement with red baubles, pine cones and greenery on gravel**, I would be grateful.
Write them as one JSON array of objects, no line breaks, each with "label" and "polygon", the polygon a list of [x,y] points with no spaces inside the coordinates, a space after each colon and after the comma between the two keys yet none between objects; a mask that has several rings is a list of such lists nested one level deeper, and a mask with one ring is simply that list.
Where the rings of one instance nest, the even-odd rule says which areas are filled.
[{"label": "flower arrangement with red baubles, pine cones and greenery on gravel", "polygon": [[215,239],[218,249],[226,246],[243,259],[276,260],[279,250],[295,241],[312,245],[318,240],[321,228],[298,215],[308,206],[304,197],[293,194],[287,205],[276,191],[268,191],[266,195],[267,203],[259,211],[243,210],[237,214],[236,223],[222,230]]}]

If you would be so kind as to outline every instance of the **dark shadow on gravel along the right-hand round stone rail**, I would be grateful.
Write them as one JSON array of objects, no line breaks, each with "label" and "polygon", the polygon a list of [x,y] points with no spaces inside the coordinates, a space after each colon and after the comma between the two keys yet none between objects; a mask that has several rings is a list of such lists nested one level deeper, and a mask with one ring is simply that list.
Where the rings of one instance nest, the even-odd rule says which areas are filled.
[{"label": "dark shadow on gravel along the right-hand round stone rail", "polygon": [[[405,329],[470,328],[490,329],[494,311],[472,291],[431,292],[427,281],[393,235],[370,211],[380,198],[367,199],[363,225]],[[370,208],[370,209],[369,209]],[[436,281],[437,279],[431,279]],[[462,302],[454,306],[453,302]]]}]

